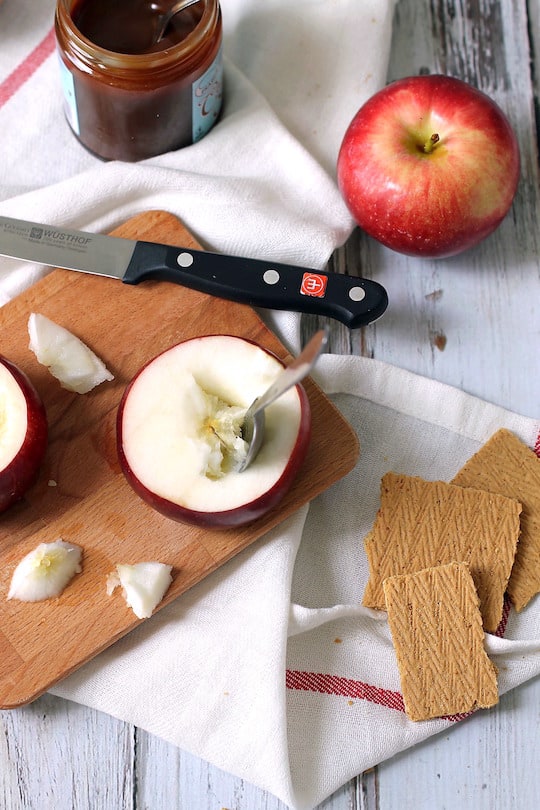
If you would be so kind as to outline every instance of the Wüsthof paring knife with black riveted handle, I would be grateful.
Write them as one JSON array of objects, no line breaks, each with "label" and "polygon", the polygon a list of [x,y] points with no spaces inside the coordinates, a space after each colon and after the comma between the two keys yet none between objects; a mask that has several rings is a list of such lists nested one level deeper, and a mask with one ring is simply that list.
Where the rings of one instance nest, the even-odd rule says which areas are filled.
[{"label": "W\u00fcsthof paring knife with black riveted handle", "polygon": [[309,312],[351,329],[379,318],[386,290],[369,279],[0,217],[0,255],[126,284],[172,281],[268,309]]}]

